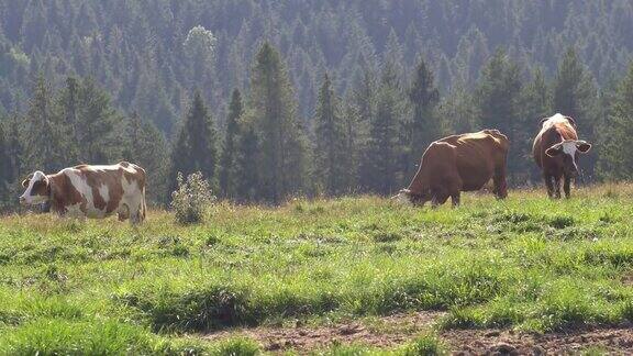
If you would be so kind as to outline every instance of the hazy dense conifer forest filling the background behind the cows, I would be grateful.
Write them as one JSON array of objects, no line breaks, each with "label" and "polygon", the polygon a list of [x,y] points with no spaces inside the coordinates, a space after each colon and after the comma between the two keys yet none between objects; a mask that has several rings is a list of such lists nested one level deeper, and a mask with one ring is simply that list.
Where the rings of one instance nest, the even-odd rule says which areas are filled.
[{"label": "hazy dense conifer forest filling the background behind the cows", "polygon": [[630,180],[629,0],[0,0],[0,198],[80,163],[178,173],[219,197],[389,194],[442,136],[499,129],[541,183],[542,118],[593,144],[578,182]]}]

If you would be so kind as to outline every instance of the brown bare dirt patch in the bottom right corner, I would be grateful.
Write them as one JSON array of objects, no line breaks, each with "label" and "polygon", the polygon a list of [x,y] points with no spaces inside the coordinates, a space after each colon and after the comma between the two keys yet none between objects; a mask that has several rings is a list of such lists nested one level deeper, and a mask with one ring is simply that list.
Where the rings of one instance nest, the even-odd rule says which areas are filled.
[{"label": "brown bare dirt patch in the bottom right corner", "polygon": [[454,355],[559,355],[586,349],[625,354],[633,325],[532,335],[500,330],[451,330],[440,334]]}]

